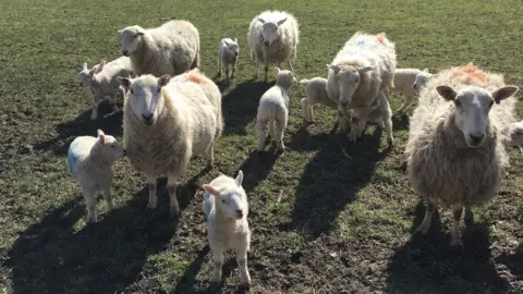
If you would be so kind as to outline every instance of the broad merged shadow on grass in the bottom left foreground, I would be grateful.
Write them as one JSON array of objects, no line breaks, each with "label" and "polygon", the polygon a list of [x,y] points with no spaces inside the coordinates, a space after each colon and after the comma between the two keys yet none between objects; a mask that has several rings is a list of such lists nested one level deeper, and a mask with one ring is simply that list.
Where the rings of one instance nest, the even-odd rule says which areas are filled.
[{"label": "broad merged shadow on grass in the bottom left foreground", "polygon": [[[162,187],[156,211],[146,210],[147,187],[99,221],[85,219],[78,197],[25,230],[8,253],[14,293],[117,293],[138,279],[147,257],[166,248],[178,228]],[[180,187],[182,198],[192,193]],[[186,197],[185,197],[186,198]],[[99,201],[104,201],[99,199]],[[186,207],[181,201],[181,208]],[[101,209],[104,209],[102,206]],[[100,210],[101,210],[100,209]],[[141,282],[143,283],[143,282]],[[150,283],[150,282],[145,282]]]}]

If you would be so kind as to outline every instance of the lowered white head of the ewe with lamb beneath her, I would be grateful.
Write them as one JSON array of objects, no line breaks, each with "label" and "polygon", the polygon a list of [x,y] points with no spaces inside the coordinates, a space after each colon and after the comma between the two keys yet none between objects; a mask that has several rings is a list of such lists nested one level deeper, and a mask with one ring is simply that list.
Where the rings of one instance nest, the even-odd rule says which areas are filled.
[{"label": "lowered white head of the ewe with lamb beneath her", "polygon": [[362,81],[362,75],[374,70],[374,65],[335,65],[327,64],[338,82],[340,90],[340,103],[346,106],[352,101],[352,96],[356,91]]}]

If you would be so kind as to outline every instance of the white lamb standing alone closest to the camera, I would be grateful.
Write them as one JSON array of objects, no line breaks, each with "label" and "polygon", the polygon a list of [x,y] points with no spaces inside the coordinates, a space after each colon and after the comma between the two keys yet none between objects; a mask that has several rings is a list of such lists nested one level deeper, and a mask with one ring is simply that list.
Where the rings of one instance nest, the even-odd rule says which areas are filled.
[{"label": "white lamb standing alone closest to the camera", "polygon": [[205,189],[203,210],[207,222],[207,240],[212,250],[215,270],[212,282],[221,281],[223,253],[235,250],[236,262],[240,269],[240,283],[251,285],[251,275],[247,269],[247,252],[251,244],[248,229],[248,204],[245,191],[242,187],[243,172],[238,172],[236,179],[220,174]]}]

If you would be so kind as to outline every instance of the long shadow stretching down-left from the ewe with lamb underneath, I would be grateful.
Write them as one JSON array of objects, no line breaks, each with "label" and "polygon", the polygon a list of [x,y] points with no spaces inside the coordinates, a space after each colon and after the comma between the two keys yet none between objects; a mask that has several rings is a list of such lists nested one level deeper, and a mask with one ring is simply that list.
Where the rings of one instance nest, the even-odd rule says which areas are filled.
[{"label": "long shadow stretching down-left from the ewe with lamb underneath", "polygon": [[[328,233],[339,213],[356,198],[372,179],[376,163],[389,151],[379,150],[381,131],[365,135],[355,144],[332,139],[307,163],[296,188],[290,223],[280,229],[296,229],[316,238]],[[289,228],[290,226],[290,228]]]}]

